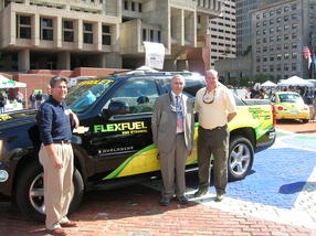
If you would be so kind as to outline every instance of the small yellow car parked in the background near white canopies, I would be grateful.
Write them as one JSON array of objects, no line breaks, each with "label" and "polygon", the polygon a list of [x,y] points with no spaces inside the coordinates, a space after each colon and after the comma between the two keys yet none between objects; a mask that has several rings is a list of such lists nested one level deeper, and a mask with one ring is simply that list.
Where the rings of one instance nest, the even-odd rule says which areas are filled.
[{"label": "small yellow car parked in the background near white canopies", "polygon": [[275,92],[271,96],[275,109],[276,119],[301,119],[308,122],[309,107],[304,103],[299,94],[295,92]]}]

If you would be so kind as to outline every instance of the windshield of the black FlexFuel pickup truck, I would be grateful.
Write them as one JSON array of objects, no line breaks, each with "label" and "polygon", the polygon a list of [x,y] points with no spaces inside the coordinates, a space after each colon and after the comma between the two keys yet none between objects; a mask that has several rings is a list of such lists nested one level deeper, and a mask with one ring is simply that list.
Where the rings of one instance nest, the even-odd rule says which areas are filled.
[{"label": "windshield of the black FlexFuel pickup truck", "polygon": [[74,112],[84,112],[95,104],[113,83],[112,79],[84,81],[70,90],[66,104]]}]

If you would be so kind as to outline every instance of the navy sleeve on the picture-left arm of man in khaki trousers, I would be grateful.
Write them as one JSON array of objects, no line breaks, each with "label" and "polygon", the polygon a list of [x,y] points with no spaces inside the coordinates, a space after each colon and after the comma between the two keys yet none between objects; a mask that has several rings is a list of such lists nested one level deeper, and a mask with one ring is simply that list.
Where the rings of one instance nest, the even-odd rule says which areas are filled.
[{"label": "navy sleeve on the picture-left arm of man in khaki trousers", "polygon": [[41,141],[44,146],[53,143],[52,138],[53,111],[48,106],[42,106],[36,114],[36,122],[40,130]]}]

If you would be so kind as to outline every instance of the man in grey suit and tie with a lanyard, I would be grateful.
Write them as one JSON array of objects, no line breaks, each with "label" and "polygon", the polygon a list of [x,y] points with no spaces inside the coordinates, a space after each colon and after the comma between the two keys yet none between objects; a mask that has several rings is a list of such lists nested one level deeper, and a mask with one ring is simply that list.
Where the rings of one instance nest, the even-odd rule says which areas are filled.
[{"label": "man in grey suit and tie with a lanyard", "polygon": [[186,192],[186,160],[192,153],[194,137],[193,100],[182,90],[185,78],[175,75],[171,92],[158,97],[154,105],[151,129],[159,150],[164,187],[160,204],[169,205],[176,194],[180,204],[188,204]]}]

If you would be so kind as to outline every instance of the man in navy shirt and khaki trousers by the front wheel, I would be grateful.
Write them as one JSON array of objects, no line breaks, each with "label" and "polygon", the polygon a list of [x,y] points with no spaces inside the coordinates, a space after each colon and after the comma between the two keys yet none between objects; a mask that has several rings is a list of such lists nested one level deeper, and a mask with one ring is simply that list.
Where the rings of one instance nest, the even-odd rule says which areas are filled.
[{"label": "man in navy shirt and khaki trousers by the front wheel", "polygon": [[65,105],[67,79],[55,76],[50,81],[51,96],[36,114],[42,146],[39,158],[44,169],[45,226],[53,235],[66,235],[62,227],[75,227],[67,218],[73,199],[72,125],[76,115]]}]

